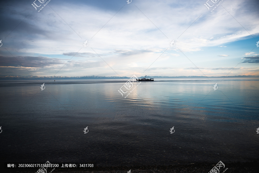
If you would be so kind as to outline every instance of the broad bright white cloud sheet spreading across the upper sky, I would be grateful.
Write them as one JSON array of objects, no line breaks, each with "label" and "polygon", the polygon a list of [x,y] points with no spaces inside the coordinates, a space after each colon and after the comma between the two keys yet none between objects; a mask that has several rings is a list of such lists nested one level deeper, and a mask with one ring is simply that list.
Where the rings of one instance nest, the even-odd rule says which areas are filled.
[{"label": "broad bright white cloud sheet spreading across the upper sky", "polygon": [[[224,1],[224,5],[227,5],[226,2]],[[240,40],[250,35],[249,33],[256,34],[259,31],[259,25],[253,20],[254,17],[251,14],[237,11],[243,6],[243,0],[231,2],[231,6],[227,7],[229,12],[238,18],[239,23],[247,26],[249,33],[240,29],[240,24],[233,20],[224,8],[217,8],[215,13],[204,13],[207,8],[197,2],[185,1],[181,6],[175,6],[175,3],[174,1],[140,1],[136,6],[141,12],[131,5],[123,7],[115,16],[114,11],[104,11],[86,4],[53,4],[55,11],[69,26],[51,8],[44,8],[27,22],[30,27],[41,28],[45,32],[43,35],[35,35],[35,38],[30,40],[25,39],[26,47],[20,48],[20,52],[39,54],[77,52],[87,39],[88,47],[83,47],[80,52],[93,52],[91,47],[98,48],[101,53],[125,48],[164,49],[173,39],[180,50],[193,52],[201,51],[202,47]],[[168,15],[168,12],[174,13]],[[91,15],[91,17],[85,17],[85,15]],[[110,21],[106,24],[108,20]],[[227,27],[226,23],[228,23]],[[103,26],[104,24],[106,25]],[[18,30],[14,33],[16,31]]]}]

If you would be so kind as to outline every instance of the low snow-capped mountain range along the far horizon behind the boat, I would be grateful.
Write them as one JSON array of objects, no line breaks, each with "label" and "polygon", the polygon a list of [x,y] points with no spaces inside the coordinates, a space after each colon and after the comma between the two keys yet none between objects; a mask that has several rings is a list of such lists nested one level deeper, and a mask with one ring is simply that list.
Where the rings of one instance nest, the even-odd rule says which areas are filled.
[{"label": "low snow-capped mountain range along the far horizon behind the boat", "polygon": [[[217,78],[224,78],[220,76]],[[139,79],[144,76],[138,77]],[[207,78],[205,76],[148,76],[148,79],[161,79],[161,78]],[[214,76],[208,76],[208,78],[216,78]],[[227,78],[259,78],[259,76],[227,76]],[[0,76],[0,80],[85,80],[85,79],[130,79],[130,77],[118,77],[118,76]]]}]

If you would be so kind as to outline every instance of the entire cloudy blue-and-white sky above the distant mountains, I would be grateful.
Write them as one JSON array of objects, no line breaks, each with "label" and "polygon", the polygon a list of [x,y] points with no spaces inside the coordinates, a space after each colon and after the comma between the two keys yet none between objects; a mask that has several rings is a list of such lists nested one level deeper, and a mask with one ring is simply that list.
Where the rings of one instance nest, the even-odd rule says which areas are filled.
[{"label": "entire cloudy blue-and-white sky above the distant mountains", "polygon": [[259,76],[259,1],[128,2],[1,1],[0,75]]}]

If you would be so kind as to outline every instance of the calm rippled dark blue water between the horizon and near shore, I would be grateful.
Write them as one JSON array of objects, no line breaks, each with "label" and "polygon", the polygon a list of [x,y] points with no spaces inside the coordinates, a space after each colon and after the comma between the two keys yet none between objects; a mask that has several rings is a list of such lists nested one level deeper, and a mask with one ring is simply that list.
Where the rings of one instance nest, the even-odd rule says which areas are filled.
[{"label": "calm rippled dark blue water between the horizon and near shore", "polygon": [[259,81],[134,82],[127,98],[118,92],[124,83],[1,81],[0,161],[138,166],[259,159]]}]

